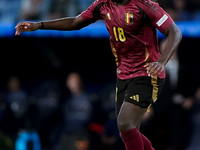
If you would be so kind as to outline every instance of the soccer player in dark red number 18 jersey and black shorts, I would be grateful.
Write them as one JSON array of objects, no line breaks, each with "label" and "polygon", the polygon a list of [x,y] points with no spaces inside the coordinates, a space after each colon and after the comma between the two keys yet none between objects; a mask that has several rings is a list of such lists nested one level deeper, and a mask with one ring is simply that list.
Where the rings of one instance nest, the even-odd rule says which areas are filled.
[{"label": "soccer player in dark red number 18 jersey and black shorts", "polygon": [[[37,29],[79,30],[103,19],[117,64],[116,114],[127,150],[154,150],[139,127],[147,108],[163,87],[165,65],[177,49],[182,34],[172,18],[150,0],[96,0],[72,18],[22,22],[16,35]],[[167,36],[160,54],[156,29]],[[103,61],[103,60],[102,60]]]}]

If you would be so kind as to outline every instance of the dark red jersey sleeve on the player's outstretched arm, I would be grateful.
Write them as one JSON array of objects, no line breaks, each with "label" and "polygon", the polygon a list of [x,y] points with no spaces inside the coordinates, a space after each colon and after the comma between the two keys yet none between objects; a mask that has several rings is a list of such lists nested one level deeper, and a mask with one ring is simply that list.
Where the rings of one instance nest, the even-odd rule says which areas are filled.
[{"label": "dark red jersey sleeve on the player's outstretched arm", "polygon": [[96,0],[94,3],[92,3],[87,10],[83,11],[81,13],[81,17],[83,20],[93,20],[97,21],[99,19],[102,19],[100,10],[98,10],[99,5],[101,4],[101,0]]}]

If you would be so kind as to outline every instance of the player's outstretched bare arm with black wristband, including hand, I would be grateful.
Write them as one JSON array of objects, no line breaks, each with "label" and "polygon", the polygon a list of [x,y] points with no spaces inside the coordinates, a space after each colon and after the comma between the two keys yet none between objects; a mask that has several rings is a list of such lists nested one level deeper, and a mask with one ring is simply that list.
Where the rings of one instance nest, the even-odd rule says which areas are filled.
[{"label": "player's outstretched bare arm with black wristband, including hand", "polygon": [[91,23],[91,20],[83,20],[81,15],[78,15],[77,17],[61,18],[43,22],[21,22],[15,27],[15,35],[20,35],[24,31],[35,31],[38,29],[64,31],[79,30]]}]

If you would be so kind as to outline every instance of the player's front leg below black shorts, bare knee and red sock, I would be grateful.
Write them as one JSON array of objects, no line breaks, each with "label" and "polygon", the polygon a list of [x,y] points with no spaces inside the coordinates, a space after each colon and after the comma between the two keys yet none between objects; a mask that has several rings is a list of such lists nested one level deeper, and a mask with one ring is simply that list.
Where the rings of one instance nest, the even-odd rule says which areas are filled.
[{"label": "player's front leg below black shorts, bare knee and red sock", "polygon": [[141,108],[135,104],[129,102],[122,104],[117,123],[127,150],[144,150],[141,133],[136,127],[145,112],[145,108]]}]

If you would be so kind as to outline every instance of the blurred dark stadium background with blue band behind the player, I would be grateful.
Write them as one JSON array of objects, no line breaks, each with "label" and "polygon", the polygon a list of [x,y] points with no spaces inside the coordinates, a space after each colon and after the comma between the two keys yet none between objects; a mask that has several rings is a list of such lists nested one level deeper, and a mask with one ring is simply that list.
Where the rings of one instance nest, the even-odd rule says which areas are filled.
[{"label": "blurred dark stadium background with blue band behind the player", "polygon": [[[76,16],[92,2],[0,0],[0,150],[124,150],[114,115],[116,67],[104,23],[14,36],[20,21]],[[183,40],[141,132],[156,150],[199,150],[200,0],[157,2]],[[165,37],[158,37],[162,49]]]}]

